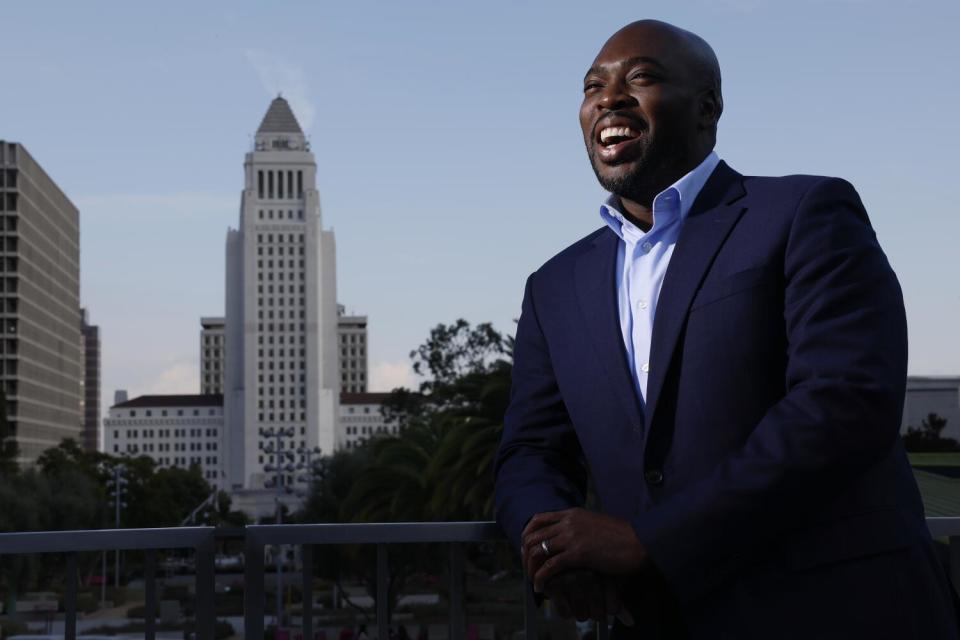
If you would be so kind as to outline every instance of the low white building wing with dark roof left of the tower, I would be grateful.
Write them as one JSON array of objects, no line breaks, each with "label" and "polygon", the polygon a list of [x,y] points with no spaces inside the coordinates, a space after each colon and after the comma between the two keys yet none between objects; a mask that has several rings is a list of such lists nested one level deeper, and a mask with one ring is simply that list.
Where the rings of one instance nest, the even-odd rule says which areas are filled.
[{"label": "low white building wing with dark roof left of the tower", "polygon": [[[125,396],[118,396],[118,400]],[[199,465],[225,488],[223,396],[139,396],[110,407],[103,420],[104,452],[149,456],[160,467]]]}]

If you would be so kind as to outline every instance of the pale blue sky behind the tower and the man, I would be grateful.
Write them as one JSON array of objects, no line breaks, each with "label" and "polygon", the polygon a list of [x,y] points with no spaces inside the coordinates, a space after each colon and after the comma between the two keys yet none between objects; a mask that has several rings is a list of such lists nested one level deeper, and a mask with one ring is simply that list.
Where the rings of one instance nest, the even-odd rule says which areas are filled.
[{"label": "pale blue sky behind the tower and the man", "polygon": [[718,151],[744,173],[839,175],[900,276],[910,372],[960,373],[960,3],[4,3],[0,138],[81,210],[105,398],[195,392],[223,312],[243,154],[283,91],[312,137],[340,301],[374,385],[438,322],[512,331],[526,275],[596,228],[583,73],[641,17],[704,36]]}]

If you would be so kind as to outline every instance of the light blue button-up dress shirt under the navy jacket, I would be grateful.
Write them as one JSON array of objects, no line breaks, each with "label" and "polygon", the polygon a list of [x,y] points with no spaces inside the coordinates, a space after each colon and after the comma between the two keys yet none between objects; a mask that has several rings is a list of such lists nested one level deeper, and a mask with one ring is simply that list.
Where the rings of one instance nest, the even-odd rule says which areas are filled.
[{"label": "light blue button-up dress shirt under the navy jacket", "polygon": [[620,330],[634,387],[644,406],[650,375],[653,319],[663,276],[667,273],[683,221],[719,163],[716,152],[711,152],[693,171],[657,194],[653,199],[653,226],[649,231],[642,231],[617,210],[614,195],[600,207],[600,217],[620,238],[615,272]]}]

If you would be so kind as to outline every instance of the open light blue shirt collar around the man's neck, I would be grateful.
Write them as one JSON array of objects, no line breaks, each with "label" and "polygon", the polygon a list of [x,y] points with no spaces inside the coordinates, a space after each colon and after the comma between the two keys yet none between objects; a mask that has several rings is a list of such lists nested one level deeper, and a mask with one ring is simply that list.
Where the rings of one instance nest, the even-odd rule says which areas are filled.
[{"label": "open light blue shirt collar around the man's neck", "polygon": [[697,199],[697,195],[718,164],[720,164],[720,157],[716,151],[711,151],[693,170],[658,193],[653,199],[653,227],[650,231],[645,232],[630,222],[617,209],[618,199],[612,193],[600,205],[600,217],[621,240],[632,242],[673,220],[685,220],[690,213],[690,208],[693,207],[694,200]]}]

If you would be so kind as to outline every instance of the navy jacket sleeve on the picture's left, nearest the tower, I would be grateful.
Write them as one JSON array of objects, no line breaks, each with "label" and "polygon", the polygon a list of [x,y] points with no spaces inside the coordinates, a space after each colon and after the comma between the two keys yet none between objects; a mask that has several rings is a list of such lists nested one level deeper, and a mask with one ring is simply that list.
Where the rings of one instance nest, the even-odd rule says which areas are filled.
[{"label": "navy jacket sleeve on the picture's left, nearest the tower", "polygon": [[583,504],[587,474],[527,279],[514,343],[510,404],[495,460],[497,521],[513,544],[537,513]]}]

